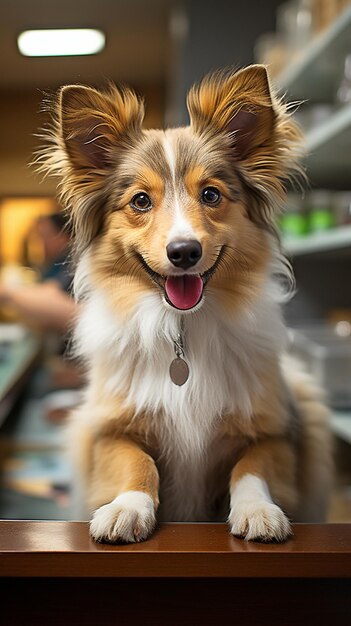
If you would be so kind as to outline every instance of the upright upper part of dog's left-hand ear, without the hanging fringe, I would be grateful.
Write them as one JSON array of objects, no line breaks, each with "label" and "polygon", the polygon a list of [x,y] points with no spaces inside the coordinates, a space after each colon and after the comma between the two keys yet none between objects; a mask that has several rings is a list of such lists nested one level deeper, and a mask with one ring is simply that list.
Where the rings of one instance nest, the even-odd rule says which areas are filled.
[{"label": "upright upper part of dog's left-hand ear, without the hanging fringe", "polygon": [[131,89],[111,85],[100,93],[69,85],[59,95],[61,137],[73,167],[109,168],[119,147],[140,133],[143,117],[143,104]]}]

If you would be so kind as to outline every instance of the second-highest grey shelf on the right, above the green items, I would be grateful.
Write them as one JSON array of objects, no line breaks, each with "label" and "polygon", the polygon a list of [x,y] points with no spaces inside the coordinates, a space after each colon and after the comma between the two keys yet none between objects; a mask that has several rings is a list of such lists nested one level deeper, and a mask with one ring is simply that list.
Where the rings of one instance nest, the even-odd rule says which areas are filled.
[{"label": "second-highest grey shelf on the right, above the green items", "polygon": [[305,165],[313,186],[351,187],[351,104],[306,135]]}]

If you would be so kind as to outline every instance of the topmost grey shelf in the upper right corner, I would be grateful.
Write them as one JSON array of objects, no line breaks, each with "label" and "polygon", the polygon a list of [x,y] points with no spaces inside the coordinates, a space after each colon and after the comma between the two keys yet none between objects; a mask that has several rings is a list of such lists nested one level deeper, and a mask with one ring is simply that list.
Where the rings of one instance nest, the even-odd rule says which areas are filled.
[{"label": "topmost grey shelf in the upper right corner", "polygon": [[286,92],[289,99],[333,101],[344,58],[350,53],[350,41],[351,7],[282,72],[275,81],[279,90]]}]

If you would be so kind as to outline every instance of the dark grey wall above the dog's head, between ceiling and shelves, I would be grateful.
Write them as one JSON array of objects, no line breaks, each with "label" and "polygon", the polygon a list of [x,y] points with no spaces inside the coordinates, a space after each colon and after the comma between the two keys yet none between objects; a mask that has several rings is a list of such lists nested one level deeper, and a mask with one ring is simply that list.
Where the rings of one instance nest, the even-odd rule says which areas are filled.
[{"label": "dark grey wall above the dog's head, between ceiling and shelves", "polygon": [[187,123],[185,106],[189,87],[207,72],[254,62],[259,35],[276,27],[281,0],[184,0],[178,8],[173,34],[174,83],[168,101],[168,119]]}]

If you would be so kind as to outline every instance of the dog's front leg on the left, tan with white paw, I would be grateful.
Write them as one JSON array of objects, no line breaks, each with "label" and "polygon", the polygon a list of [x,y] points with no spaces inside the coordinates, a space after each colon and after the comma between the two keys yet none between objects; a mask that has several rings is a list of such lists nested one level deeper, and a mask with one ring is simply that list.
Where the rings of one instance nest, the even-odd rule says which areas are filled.
[{"label": "dog's front leg on the left, tan with white paw", "polygon": [[96,541],[146,539],[156,524],[159,477],[153,459],[134,441],[102,438],[95,443],[90,532]]}]

